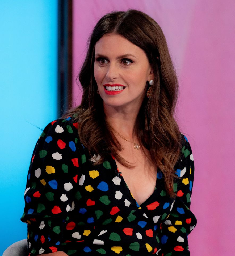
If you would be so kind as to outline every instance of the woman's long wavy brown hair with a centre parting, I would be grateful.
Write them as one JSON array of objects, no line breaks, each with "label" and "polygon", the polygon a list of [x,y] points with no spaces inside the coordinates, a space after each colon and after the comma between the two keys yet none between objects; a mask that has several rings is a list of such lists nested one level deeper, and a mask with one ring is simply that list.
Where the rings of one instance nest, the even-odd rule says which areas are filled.
[{"label": "woman's long wavy brown hair with a centre parting", "polygon": [[[180,156],[181,135],[173,117],[178,95],[178,81],[170,58],[165,36],[154,19],[147,14],[129,9],[104,15],[96,24],[90,38],[85,61],[77,77],[82,85],[81,105],[66,115],[78,115],[78,133],[91,156],[100,155],[98,165],[107,154],[125,166],[129,163],[120,155],[121,145],[105,121],[103,100],[97,94],[94,78],[94,51],[96,42],[108,33],[122,35],[143,49],[154,71],[152,97],[142,102],[135,122],[134,132],[142,145],[149,150],[151,161],[162,171],[165,188],[173,193],[174,166]],[[77,80],[76,80],[77,81]],[[148,87],[146,82],[146,89]],[[105,143],[104,143],[105,142]]]}]

